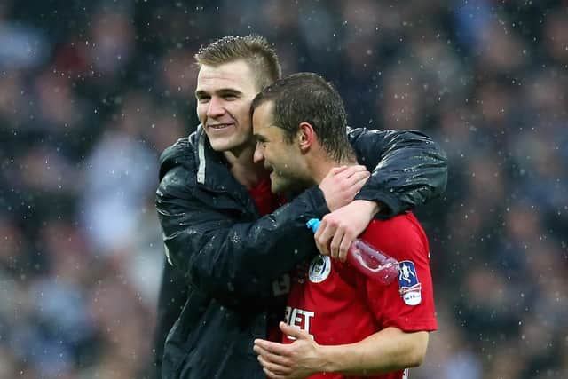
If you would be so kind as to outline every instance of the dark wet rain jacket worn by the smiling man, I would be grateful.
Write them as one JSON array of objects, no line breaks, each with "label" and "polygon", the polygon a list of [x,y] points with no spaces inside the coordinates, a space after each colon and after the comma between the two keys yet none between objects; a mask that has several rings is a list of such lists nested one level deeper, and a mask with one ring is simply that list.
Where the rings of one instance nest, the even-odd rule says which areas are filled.
[{"label": "dark wet rain jacket worn by the smiling man", "polygon": [[[382,217],[446,189],[446,155],[410,130],[349,131],[360,163],[375,168],[358,199],[381,201]],[[264,378],[252,350],[266,318],[281,311],[289,272],[314,253],[305,227],[327,209],[312,187],[271,215],[255,202],[198,128],[161,157],[156,208],[166,255],[185,276],[187,300],[164,348],[163,378]]]}]

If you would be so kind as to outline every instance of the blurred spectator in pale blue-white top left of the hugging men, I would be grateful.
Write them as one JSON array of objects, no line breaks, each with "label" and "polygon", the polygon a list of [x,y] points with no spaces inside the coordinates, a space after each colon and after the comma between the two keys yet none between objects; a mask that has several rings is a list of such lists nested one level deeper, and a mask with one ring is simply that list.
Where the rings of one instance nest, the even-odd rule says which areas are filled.
[{"label": "blurred spectator in pale blue-white top left of the hugging men", "polygon": [[142,139],[154,117],[151,100],[132,92],[86,159],[84,225],[99,252],[130,247],[142,206],[155,186],[157,158]]}]

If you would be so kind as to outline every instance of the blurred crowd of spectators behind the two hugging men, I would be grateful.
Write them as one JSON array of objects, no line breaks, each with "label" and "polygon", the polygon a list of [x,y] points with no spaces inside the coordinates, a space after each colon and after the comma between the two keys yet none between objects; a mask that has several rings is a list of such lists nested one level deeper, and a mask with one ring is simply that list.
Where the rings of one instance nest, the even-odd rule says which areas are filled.
[{"label": "blurred crowd of spectators behind the two hugging men", "polygon": [[193,54],[249,33],[352,126],[448,154],[416,210],[439,330],[411,377],[568,377],[565,0],[3,0],[0,377],[146,377],[157,158],[197,125]]}]

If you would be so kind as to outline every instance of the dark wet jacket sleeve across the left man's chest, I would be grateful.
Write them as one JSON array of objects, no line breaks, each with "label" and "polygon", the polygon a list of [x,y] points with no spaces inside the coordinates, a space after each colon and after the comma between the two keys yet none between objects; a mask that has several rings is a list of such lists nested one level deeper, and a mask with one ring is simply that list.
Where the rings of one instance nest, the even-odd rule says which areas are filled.
[{"label": "dark wet jacket sleeve across the left man's chest", "polygon": [[241,304],[237,297],[281,295],[272,280],[314,252],[305,222],[328,212],[319,187],[270,215],[243,223],[241,210],[219,211],[201,201],[187,185],[187,173],[180,166],[169,170],[156,192],[170,262],[197,287],[228,304]]}]

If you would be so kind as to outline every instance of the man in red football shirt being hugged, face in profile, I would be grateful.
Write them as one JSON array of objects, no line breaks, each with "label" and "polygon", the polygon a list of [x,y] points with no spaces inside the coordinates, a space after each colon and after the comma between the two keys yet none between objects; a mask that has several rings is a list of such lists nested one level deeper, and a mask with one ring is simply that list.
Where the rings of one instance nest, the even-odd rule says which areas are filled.
[{"label": "man in red football shirt being hugged, face in profile", "polygon": [[[318,186],[333,167],[356,164],[343,101],[319,75],[273,83],[252,109],[255,162],[271,172],[272,192]],[[282,343],[255,342],[266,375],[400,379],[422,363],[437,327],[426,235],[406,213],[373,220],[361,238],[398,259],[398,283],[384,286],[349,264],[314,257],[307,278],[292,284]]]}]

